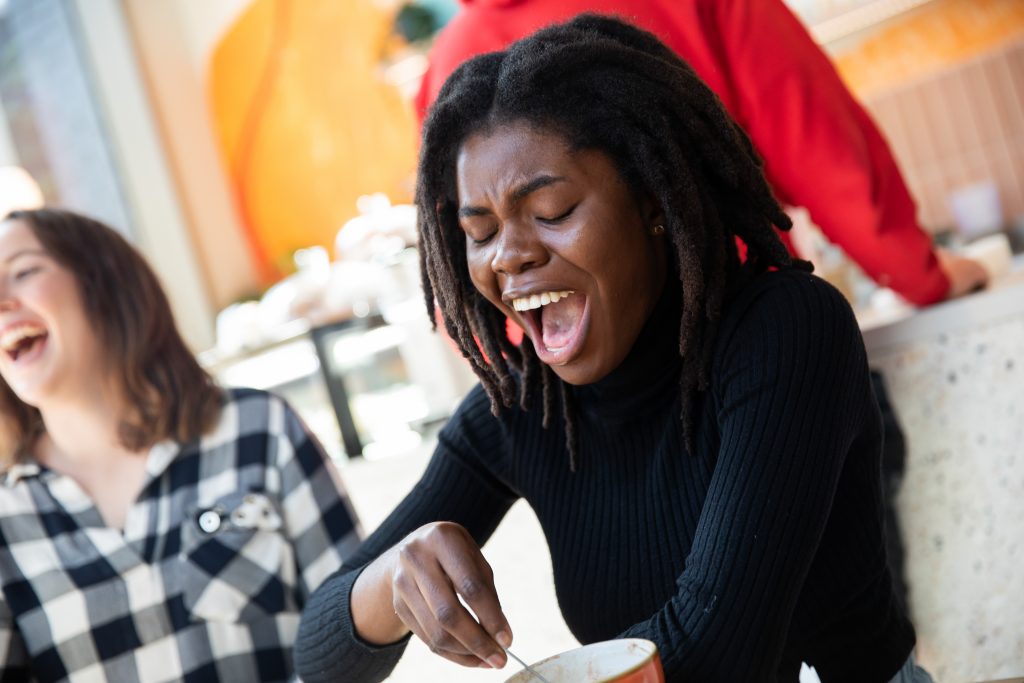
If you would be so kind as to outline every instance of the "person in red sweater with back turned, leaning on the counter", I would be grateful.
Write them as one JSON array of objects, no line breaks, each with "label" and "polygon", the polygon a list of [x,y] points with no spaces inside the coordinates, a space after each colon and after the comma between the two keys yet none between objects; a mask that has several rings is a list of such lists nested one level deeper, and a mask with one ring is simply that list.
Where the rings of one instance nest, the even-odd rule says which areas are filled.
[{"label": "person in red sweater with back turned, leaning on the counter", "polygon": [[876,282],[916,305],[986,284],[977,262],[932,248],[885,139],[780,0],[461,2],[431,50],[421,121],[467,58],[581,12],[615,14],[689,62],[753,139],[778,200],[805,207]]}]

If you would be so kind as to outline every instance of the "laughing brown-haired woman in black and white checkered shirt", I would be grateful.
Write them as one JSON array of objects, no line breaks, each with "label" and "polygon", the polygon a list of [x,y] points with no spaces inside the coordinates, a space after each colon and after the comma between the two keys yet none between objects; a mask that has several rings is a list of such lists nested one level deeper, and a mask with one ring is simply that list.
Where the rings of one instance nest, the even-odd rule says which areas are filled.
[{"label": "laughing brown-haired woman in black and white checkered shirt", "polygon": [[0,222],[0,680],[287,680],[358,541],[295,414],[217,388],[138,253],[69,212]]}]

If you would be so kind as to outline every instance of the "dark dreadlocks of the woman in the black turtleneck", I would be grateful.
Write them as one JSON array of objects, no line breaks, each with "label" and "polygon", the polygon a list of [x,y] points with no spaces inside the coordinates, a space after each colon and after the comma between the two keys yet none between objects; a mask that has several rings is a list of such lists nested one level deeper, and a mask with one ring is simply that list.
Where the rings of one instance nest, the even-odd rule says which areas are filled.
[{"label": "dark dreadlocks of the woman in the black turtleneck", "polygon": [[[503,52],[477,56],[444,83],[423,128],[416,202],[427,310],[479,377],[497,416],[541,402],[544,426],[561,403],[569,466],[579,436],[572,392],[542,364],[530,340],[513,345],[505,316],[473,286],[458,221],[456,159],[472,134],[525,123],[598,150],[637,197],[665,217],[682,295],[679,354],[683,438],[694,452],[694,405],[708,387],[718,321],[730,288],[768,268],[810,270],[773,226],[790,218],[765,180],[746,134],[696,74],[652,34],[583,14]],[[736,239],[746,246],[740,263]],[[512,371],[520,374],[518,392]]]}]

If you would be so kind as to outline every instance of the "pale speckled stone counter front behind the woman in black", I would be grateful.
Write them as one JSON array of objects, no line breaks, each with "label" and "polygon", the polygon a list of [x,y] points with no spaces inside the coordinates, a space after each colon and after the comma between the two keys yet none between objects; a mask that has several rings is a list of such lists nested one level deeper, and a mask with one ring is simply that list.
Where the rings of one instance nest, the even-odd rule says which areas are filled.
[{"label": "pale speckled stone counter front behind the woman in black", "polygon": [[[864,326],[867,327],[867,326]],[[1024,673],[1024,259],[864,330],[906,439],[896,498],[915,657],[935,680]]]}]

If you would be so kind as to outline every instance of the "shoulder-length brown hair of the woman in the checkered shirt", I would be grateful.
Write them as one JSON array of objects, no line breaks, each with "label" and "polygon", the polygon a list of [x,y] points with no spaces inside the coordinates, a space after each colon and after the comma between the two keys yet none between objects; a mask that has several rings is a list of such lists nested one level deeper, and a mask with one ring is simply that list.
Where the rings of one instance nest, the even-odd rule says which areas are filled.
[{"label": "shoulder-length brown hair of the woman in the checkered shirt", "polygon": [[[185,346],[141,254],[113,228],[71,211],[12,211],[4,220],[28,225],[78,283],[115,385],[131,409],[119,425],[122,445],[141,451],[208,431],[220,414],[220,390]],[[29,455],[44,430],[39,411],[0,378],[0,471]]]}]

